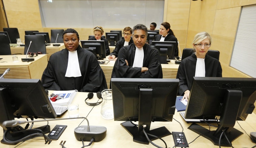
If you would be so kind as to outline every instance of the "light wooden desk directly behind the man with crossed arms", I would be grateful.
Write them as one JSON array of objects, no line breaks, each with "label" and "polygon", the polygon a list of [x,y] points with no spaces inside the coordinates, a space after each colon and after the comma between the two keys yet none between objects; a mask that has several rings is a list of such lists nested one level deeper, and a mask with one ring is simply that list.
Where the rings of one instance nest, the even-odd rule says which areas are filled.
[{"label": "light wooden desk directly behind the man with crossed arms", "polygon": [[[107,63],[108,57],[105,60],[106,60],[105,63]],[[108,88],[110,86],[110,79],[111,79],[111,74],[112,74],[114,64],[115,64],[114,61],[110,61],[107,64],[100,64],[100,67],[102,68],[102,70],[105,74]],[[174,60],[171,60],[171,62],[168,62],[168,64],[161,64],[161,65],[162,65],[162,71],[163,71],[163,78],[176,79],[179,64],[175,64]]]}]

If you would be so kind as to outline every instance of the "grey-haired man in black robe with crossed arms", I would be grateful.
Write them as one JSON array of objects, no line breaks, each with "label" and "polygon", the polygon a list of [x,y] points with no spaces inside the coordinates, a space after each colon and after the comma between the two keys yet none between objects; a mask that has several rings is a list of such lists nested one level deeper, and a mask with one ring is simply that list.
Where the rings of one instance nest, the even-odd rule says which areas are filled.
[{"label": "grey-haired man in black robe with crossed arms", "polygon": [[158,61],[159,52],[146,44],[148,28],[137,24],[133,27],[133,42],[124,46],[118,53],[113,67],[112,78],[163,78]]}]

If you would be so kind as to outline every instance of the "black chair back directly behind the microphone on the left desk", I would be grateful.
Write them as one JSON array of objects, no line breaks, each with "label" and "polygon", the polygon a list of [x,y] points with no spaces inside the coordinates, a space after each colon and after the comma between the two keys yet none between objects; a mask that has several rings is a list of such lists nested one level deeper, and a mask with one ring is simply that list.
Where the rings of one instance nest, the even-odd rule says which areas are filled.
[{"label": "black chair back directly behind the microphone on the left desk", "polygon": [[[31,42],[29,51],[28,47]],[[46,47],[43,35],[25,35],[25,48],[24,48],[24,55],[26,55],[27,51],[36,53],[42,52],[42,54],[46,54]]]}]

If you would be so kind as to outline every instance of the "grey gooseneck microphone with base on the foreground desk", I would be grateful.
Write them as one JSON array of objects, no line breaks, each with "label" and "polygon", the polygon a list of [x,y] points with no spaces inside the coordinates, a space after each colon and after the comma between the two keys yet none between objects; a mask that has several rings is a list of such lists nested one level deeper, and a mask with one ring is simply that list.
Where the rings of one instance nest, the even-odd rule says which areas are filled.
[{"label": "grey gooseneck microphone with base on the foreground desk", "polygon": [[76,140],[90,141],[92,138],[94,138],[95,139],[94,141],[98,142],[105,138],[107,128],[103,126],[89,126],[89,121],[85,117],[56,118],[56,119],[33,120],[33,121],[9,120],[9,121],[4,121],[2,125],[4,127],[15,127],[20,124],[31,123],[31,122],[45,122],[45,121],[56,121],[56,120],[70,120],[70,119],[85,119],[87,121],[87,126],[79,126],[74,129]]}]

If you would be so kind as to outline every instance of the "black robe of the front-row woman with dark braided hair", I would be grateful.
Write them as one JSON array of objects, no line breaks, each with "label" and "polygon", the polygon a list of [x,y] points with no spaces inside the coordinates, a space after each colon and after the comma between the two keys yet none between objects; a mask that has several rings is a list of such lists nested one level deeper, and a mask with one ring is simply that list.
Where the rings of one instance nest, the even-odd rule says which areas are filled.
[{"label": "black robe of the front-row woman with dark braided hair", "polygon": [[65,77],[68,66],[68,50],[63,49],[51,55],[42,75],[42,84],[49,90],[78,90],[98,92],[107,89],[105,75],[98,61],[90,51],[77,48],[81,77]]}]

